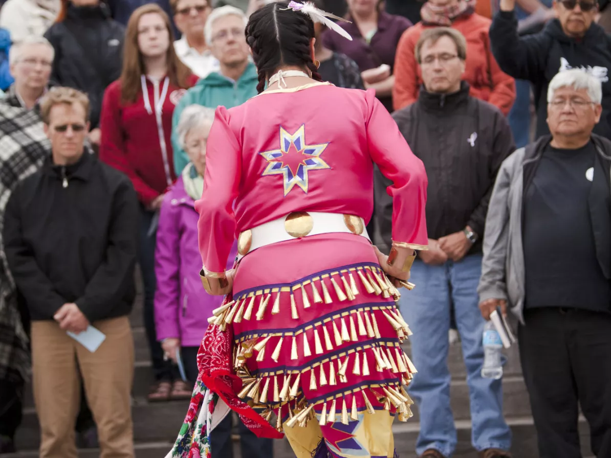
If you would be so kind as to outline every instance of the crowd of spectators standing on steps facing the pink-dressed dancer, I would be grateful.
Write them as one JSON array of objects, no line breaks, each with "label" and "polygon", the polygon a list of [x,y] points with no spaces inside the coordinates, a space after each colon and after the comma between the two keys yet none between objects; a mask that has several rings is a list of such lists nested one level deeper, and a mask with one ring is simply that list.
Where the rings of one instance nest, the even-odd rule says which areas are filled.
[{"label": "crowd of spectators standing on steps facing the pink-dressed dancer", "polygon": [[[76,456],[77,445],[134,456],[135,275],[147,400],[190,397],[221,303],[199,279],[207,137],[216,107],[263,84],[244,26],[270,1],[0,1],[0,454],[15,449],[31,382],[41,457]],[[611,357],[606,1],[314,3],[353,37],[315,24],[320,75],[375,91],[429,177],[430,249],[401,302],[415,330],[417,453],[455,451],[455,329],[473,446],[511,456],[502,380],[481,376],[483,328],[499,307],[518,327],[541,457],[579,456],[578,401],[593,452],[610,457],[611,366],[597,367]],[[368,231],[384,249],[392,200],[378,171],[374,180]],[[106,336],[95,351],[73,338],[90,326]],[[271,441],[238,431],[242,456],[272,456]],[[227,416],[213,457],[232,456],[231,437]]]}]

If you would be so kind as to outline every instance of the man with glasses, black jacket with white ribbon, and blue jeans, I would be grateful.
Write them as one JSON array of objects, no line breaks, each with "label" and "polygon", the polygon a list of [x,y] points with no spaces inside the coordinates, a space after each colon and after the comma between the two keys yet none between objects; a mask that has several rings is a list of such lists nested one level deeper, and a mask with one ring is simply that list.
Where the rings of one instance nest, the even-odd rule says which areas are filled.
[{"label": "man with glasses, black jacket with white ribbon, and blue jeans", "polygon": [[[410,337],[418,369],[410,384],[420,411],[416,451],[422,458],[443,458],[456,447],[447,367],[453,308],[467,366],[473,445],[482,458],[508,457],[511,432],[503,420],[501,382],[480,373],[485,321],[477,284],[488,200],[500,164],[514,150],[513,139],[502,113],[469,96],[469,85],[461,82],[466,41],[460,32],[447,27],[424,31],[415,56],[424,85],[418,100],[393,117],[428,175],[429,248],[412,266],[411,281],[418,288],[404,296],[409,302],[403,308],[418,330]],[[378,172],[377,183],[382,180]],[[392,198],[377,195],[382,237],[390,243]]]}]

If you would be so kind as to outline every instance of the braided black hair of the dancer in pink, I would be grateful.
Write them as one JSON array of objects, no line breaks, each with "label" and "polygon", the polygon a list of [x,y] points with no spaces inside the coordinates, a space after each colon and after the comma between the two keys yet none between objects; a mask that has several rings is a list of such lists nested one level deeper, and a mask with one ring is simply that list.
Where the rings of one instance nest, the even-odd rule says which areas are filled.
[{"label": "braided black hair of the dancer in pink", "polygon": [[314,23],[310,16],[288,9],[288,2],[274,2],[253,13],[246,25],[246,41],[258,70],[258,93],[279,67],[307,68],[312,79],[323,81],[310,53]]}]

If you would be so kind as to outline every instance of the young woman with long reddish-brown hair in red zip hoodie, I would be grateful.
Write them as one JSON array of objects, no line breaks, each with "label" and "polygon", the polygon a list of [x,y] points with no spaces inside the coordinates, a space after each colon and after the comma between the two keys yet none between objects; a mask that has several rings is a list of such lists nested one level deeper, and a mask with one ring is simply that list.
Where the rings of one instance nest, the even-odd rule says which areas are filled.
[{"label": "young woman with long reddish-brown hair in red zip hoodie", "polygon": [[149,401],[189,398],[156,340],[155,233],[164,194],[176,180],[172,159],[174,107],[196,80],[176,56],[167,14],[156,4],[138,8],[125,34],[121,77],[104,94],[100,158],[128,175],[140,201],[139,264],[144,282],[144,325],[156,383]]}]

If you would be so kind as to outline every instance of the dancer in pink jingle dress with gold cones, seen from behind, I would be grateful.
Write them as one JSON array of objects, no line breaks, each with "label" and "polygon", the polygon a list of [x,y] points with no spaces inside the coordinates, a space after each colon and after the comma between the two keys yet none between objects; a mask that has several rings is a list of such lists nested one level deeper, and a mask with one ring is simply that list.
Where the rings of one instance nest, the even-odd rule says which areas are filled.
[{"label": "dancer in pink jingle dress with gold cones, seen from behind", "polygon": [[[216,110],[196,208],[202,282],[228,298],[210,319],[200,377],[222,391],[206,358],[222,360],[219,336],[230,335],[240,378],[228,402],[256,434],[284,431],[298,458],[393,457],[391,425],[411,416],[404,386],[415,371],[395,300],[414,249],[426,249],[426,173],[373,90],[320,82],[303,7],[251,16],[260,95]],[[389,258],[365,230],[374,162],[393,181]],[[243,415],[241,401],[260,415]]]}]

